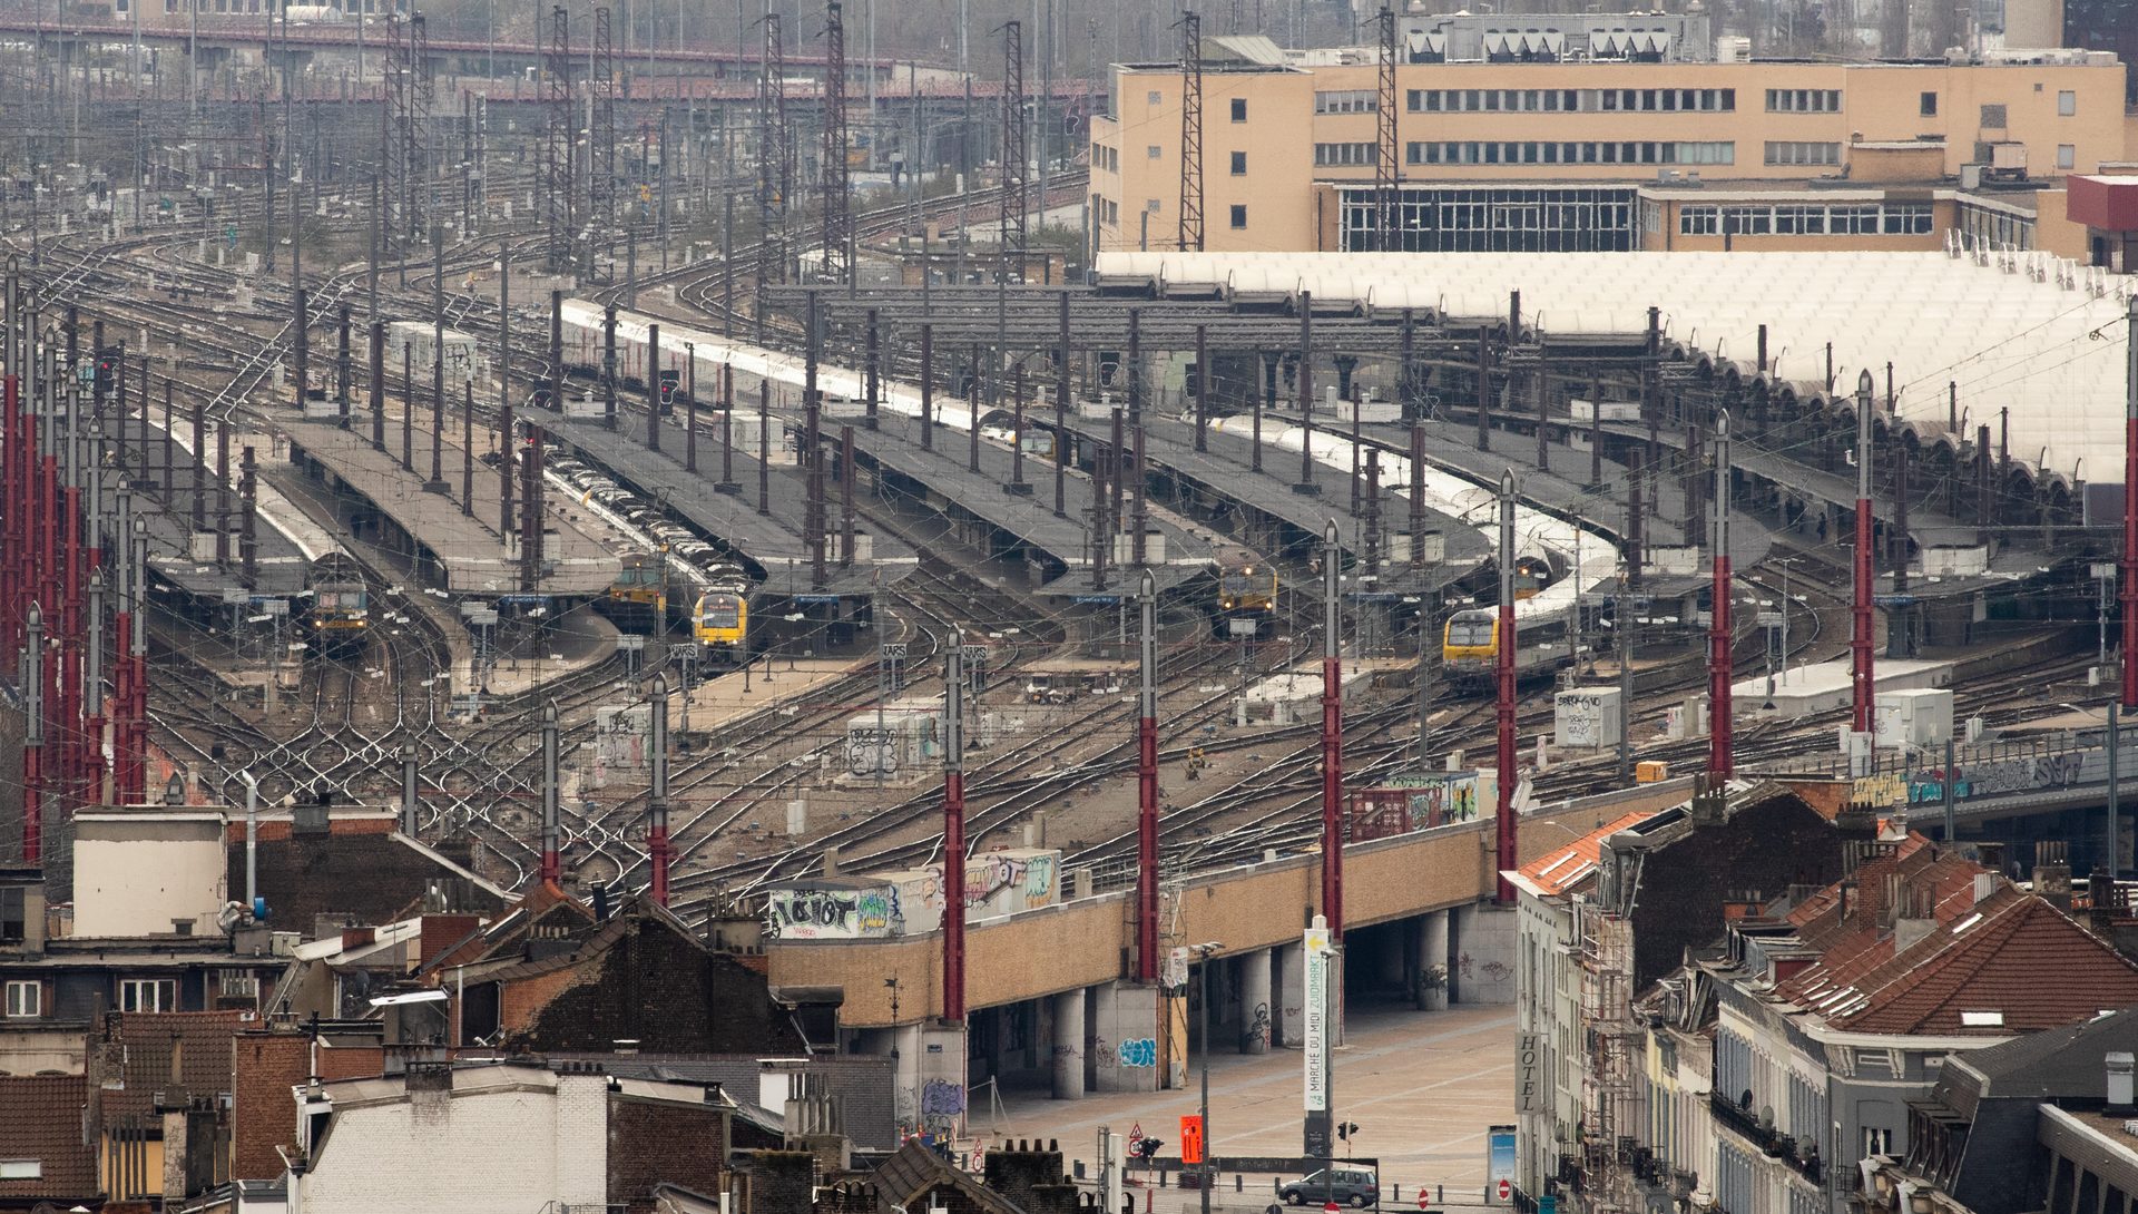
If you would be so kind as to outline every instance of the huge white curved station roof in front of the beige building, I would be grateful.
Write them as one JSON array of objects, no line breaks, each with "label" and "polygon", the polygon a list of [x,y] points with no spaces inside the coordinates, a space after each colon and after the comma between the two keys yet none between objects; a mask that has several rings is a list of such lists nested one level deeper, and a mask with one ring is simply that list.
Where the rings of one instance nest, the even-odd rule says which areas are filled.
[{"label": "huge white curved station roof in front of the beige building", "polygon": [[[1689,199],[1698,201],[1698,199]],[[1272,299],[1355,301],[1450,323],[1507,316],[1552,336],[1642,333],[1661,308],[1668,344],[1753,376],[1760,325],[1770,376],[1798,398],[1854,393],[1892,363],[1903,421],[1963,430],[2010,408],[2012,460],[2072,485],[2123,483],[2125,295],[2132,280],[2040,252],[1103,252],[1101,284]],[[1832,342],[1832,391],[1826,346]]]}]

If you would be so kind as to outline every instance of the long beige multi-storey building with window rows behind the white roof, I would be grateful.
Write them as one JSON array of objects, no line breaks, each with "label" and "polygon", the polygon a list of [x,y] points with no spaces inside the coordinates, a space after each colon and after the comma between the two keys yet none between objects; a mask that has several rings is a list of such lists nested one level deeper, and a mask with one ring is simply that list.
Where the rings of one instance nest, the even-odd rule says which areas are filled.
[{"label": "long beige multi-storey building with window rows behind the white roof", "polygon": [[[1379,248],[1375,51],[1212,43],[1202,246]],[[1488,45],[1503,58],[1561,49],[1535,30]],[[2129,154],[2125,68],[2106,53],[1841,64],[1595,49],[1653,62],[1398,64],[1400,248],[1914,250],[1958,229],[2085,256],[2061,177]],[[1114,68],[1090,143],[1101,250],[1180,246],[1180,100],[1178,64]]]}]

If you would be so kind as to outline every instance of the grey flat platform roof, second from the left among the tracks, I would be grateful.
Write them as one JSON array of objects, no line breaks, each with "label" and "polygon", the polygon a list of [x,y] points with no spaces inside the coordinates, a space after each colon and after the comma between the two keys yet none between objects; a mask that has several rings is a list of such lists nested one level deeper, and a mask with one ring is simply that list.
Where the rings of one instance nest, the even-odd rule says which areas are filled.
[{"label": "grey flat platform roof, second from the left among the tracks", "polygon": [[[417,438],[417,466],[430,457],[430,436]],[[304,421],[289,427],[291,457],[304,453],[325,464],[334,474],[363,500],[378,507],[430,551],[445,573],[445,590],[455,594],[517,594],[520,556],[507,551],[498,536],[498,472],[477,462],[475,511],[464,515],[460,500],[449,494],[423,489],[423,477],[410,474],[393,457],[393,438],[387,451],[374,451],[368,434],[342,430],[334,421]],[[445,442],[445,481],[460,492],[460,445]],[[549,492],[549,509],[543,536],[545,566],[537,579],[537,594],[601,594],[614,581],[622,562],[616,539],[607,528],[582,526],[582,522],[556,509],[556,494]]]}]

